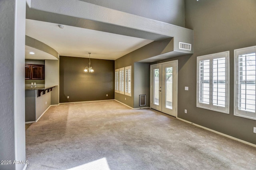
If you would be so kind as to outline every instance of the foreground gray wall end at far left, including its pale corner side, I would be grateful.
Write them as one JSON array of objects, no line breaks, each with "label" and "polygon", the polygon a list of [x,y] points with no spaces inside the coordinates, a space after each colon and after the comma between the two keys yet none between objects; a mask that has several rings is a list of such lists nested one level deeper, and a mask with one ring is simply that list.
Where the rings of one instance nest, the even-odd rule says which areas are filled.
[{"label": "foreground gray wall end at far left, including its pale corner side", "polygon": [[[0,160],[26,160],[25,0],[0,1]],[[24,164],[1,165],[22,170]]]}]

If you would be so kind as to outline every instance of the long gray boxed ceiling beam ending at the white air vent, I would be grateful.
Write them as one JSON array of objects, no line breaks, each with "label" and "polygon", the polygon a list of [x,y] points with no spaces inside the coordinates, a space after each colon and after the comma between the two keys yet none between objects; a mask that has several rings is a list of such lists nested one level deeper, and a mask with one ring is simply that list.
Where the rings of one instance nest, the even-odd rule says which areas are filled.
[{"label": "long gray boxed ceiling beam ending at the white air vent", "polygon": [[[31,0],[26,18],[162,41],[174,37],[174,51],[193,53],[191,29],[112,10],[80,0]],[[192,44],[192,50],[178,48],[178,43]]]}]

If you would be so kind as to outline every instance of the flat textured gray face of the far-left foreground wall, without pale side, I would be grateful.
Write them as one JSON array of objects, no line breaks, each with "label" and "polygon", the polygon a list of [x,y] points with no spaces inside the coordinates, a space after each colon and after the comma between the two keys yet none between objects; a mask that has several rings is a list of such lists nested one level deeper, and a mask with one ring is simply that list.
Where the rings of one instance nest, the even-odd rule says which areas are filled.
[{"label": "flat textured gray face of the far-left foreground wall, without pale side", "polygon": [[[0,160],[14,160],[14,0],[0,1]],[[14,169],[14,165],[8,166]],[[8,169],[7,166],[1,166]]]}]

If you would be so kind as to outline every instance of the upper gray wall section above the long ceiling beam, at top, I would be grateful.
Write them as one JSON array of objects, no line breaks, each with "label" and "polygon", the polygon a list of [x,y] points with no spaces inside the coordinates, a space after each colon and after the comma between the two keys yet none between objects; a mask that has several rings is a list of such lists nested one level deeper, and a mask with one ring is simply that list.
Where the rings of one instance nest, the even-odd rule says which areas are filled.
[{"label": "upper gray wall section above the long ceiling beam, at top", "polygon": [[157,21],[185,26],[184,0],[82,0]]}]

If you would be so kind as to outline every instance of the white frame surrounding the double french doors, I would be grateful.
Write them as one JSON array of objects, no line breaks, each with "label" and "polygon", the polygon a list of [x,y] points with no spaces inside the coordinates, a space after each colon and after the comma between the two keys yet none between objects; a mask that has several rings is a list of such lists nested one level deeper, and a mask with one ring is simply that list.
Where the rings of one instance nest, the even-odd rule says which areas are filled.
[{"label": "white frame surrounding the double french doors", "polygon": [[175,104],[175,117],[178,117],[178,60],[174,60],[174,61],[167,61],[164,63],[158,63],[158,64],[152,64],[150,65],[150,108],[152,108],[152,86],[153,86],[153,80],[152,80],[152,66],[156,66],[156,65],[162,65],[162,64],[168,64],[168,63],[175,63],[176,64],[176,104]]}]

